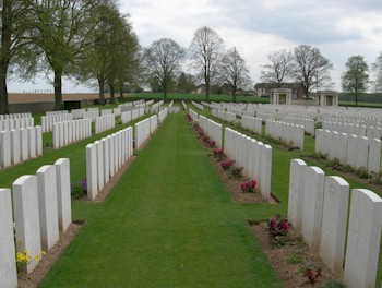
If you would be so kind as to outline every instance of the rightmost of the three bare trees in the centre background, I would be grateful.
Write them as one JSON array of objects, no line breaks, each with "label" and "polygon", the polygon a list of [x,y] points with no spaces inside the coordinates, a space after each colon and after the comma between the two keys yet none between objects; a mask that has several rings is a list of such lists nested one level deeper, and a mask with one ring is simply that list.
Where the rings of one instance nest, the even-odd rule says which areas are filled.
[{"label": "rightmost of the three bare trees in the centre background", "polygon": [[236,47],[229,49],[222,58],[219,67],[222,84],[228,88],[236,101],[238,89],[244,89],[251,84],[249,70],[244,59],[241,58]]}]

